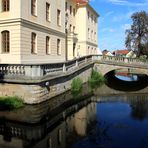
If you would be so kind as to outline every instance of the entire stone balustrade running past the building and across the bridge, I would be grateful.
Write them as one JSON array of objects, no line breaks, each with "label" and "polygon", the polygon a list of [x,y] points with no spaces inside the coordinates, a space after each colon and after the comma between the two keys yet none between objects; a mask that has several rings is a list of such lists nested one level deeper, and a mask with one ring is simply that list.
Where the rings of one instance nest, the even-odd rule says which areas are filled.
[{"label": "entire stone balustrade running past the building and across the bridge", "polygon": [[147,67],[148,61],[137,58],[89,55],[63,63],[50,64],[0,64],[0,79],[40,79],[71,72],[90,63],[122,64]]}]

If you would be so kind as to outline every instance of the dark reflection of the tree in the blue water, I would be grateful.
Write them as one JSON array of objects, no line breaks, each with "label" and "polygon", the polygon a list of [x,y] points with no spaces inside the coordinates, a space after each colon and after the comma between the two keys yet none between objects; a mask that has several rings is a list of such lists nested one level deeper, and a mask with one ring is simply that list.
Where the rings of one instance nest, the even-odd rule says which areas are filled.
[{"label": "dark reflection of the tree in the blue water", "polygon": [[129,97],[132,108],[131,116],[138,120],[148,118],[148,97],[147,96],[132,96]]}]

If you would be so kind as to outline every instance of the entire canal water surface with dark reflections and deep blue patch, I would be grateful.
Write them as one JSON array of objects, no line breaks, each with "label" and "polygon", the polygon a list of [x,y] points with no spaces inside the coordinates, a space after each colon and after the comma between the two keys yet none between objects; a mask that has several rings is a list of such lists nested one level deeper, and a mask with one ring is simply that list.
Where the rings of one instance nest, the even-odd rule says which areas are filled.
[{"label": "entire canal water surface with dark reflections and deep blue patch", "polygon": [[84,92],[0,111],[0,148],[148,147],[148,87]]}]

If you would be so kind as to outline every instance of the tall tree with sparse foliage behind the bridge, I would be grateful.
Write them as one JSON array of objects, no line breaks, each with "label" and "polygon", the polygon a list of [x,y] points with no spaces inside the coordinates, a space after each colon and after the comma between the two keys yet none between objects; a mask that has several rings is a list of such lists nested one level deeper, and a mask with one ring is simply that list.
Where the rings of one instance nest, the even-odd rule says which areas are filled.
[{"label": "tall tree with sparse foliage behind the bridge", "polygon": [[126,30],[125,45],[137,53],[148,54],[148,13],[145,11],[136,12],[132,16],[132,25]]}]

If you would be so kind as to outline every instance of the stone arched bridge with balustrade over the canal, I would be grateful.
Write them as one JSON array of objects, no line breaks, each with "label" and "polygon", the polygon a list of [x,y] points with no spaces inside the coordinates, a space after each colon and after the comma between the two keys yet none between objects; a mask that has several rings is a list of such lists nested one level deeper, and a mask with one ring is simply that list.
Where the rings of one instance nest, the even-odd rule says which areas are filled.
[{"label": "stone arched bridge with balustrade over the canal", "polygon": [[129,59],[123,57],[99,57],[95,58],[94,68],[103,75],[117,69],[129,70],[132,73],[148,75],[148,61]]}]

